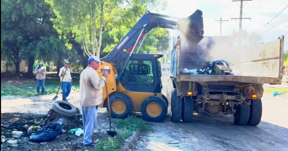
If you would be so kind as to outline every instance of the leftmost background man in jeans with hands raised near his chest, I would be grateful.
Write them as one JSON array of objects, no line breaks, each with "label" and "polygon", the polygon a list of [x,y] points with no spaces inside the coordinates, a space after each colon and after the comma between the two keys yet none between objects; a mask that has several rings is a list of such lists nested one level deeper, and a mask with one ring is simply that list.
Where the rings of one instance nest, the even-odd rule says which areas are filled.
[{"label": "leftmost background man in jeans with hands raised near his chest", "polygon": [[43,62],[39,62],[38,67],[35,69],[34,73],[36,74],[37,80],[37,93],[40,93],[40,85],[42,86],[42,95],[45,92],[45,78],[46,78],[46,69]]}]

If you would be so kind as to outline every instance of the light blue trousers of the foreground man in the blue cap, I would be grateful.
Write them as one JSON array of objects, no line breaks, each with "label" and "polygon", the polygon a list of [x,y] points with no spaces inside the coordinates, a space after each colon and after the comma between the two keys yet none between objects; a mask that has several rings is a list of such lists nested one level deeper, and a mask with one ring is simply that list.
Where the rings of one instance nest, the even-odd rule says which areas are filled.
[{"label": "light blue trousers of the foreground man in the blue cap", "polygon": [[82,107],[84,145],[89,145],[92,142],[92,132],[97,123],[97,112],[98,110],[96,107]]}]

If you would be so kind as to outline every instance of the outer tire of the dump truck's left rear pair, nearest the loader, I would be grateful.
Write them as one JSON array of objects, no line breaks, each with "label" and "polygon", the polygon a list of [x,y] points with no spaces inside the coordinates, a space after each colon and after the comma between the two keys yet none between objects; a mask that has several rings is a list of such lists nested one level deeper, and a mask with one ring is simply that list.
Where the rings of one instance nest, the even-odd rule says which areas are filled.
[{"label": "outer tire of the dump truck's left rear pair, nearest the loader", "polygon": [[174,88],[171,93],[171,121],[180,122],[182,114],[182,100],[177,96],[177,91]]}]

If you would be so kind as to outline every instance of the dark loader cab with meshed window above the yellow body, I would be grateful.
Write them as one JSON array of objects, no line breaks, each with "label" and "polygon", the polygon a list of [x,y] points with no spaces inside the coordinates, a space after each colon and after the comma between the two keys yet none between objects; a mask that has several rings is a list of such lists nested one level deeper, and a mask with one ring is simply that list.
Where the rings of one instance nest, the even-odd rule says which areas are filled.
[{"label": "dark loader cab with meshed window above the yellow body", "polygon": [[[119,58],[119,66],[122,69],[129,54]],[[161,93],[161,65],[159,54],[132,54],[126,70],[120,80],[125,89],[136,92]]]}]

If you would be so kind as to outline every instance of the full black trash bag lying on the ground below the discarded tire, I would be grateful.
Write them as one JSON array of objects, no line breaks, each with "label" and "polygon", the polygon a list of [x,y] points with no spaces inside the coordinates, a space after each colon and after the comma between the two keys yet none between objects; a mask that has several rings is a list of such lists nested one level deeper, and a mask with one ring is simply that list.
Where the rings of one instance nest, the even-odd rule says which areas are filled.
[{"label": "full black trash bag lying on the ground below the discarded tire", "polygon": [[62,126],[59,123],[49,123],[32,133],[29,140],[35,143],[49,142],[54,140],[61,133]]}]

